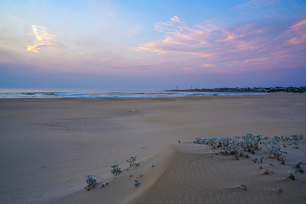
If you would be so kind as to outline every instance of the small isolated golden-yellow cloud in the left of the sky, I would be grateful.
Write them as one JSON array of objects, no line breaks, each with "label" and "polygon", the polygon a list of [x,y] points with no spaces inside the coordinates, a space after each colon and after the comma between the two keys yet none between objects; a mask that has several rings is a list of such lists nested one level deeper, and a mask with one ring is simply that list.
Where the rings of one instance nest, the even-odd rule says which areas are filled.
[{"label": "small isolated golden-yellow cloud in the left of the sky", "polygon": [[29,45],[26,51],[32,51],[39,53],[38,50],[54,50],[55,43],[52,41],[56,41],[56,36],[49,33],[49,28],[46,26],[35,26],[32,25],[32,33],[28,33],[28,35],[35,36],[35,39],[32,43],[33,45]]}]

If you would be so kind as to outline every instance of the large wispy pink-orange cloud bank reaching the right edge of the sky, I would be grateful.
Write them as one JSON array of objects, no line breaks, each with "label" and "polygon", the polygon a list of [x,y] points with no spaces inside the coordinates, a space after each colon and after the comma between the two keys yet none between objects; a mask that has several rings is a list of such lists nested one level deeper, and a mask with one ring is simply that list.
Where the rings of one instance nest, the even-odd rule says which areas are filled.
[{"label": "large wispy pink-orange cloud bank reaching the right edge of the sky", "polygon": [[[160,54],[160,60],[185,61],[185,66],[178,68],[185,71],[201,67],[212,72],[232,69],[233,73],[233,69],[244,67],[249,70],[257,66],[298,67],[301,64],[296,60],[302,60],[305,54],[306,19],[289,26],[281,20],[269,23],[257,20],[222,27],[214,20],[188,25],[173,17],[166,23],[155,24],[155,30],[164,33],[162,39],[139,44],[134,50],[151,56]],[[211,69],[212,66],[218,69]]]}]

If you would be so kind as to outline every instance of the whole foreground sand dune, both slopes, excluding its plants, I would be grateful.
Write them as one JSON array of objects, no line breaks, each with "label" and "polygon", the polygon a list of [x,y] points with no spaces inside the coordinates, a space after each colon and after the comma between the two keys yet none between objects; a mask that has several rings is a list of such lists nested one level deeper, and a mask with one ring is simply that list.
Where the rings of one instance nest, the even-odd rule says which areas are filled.
[{"label": "whole foreground sand dune, both slopes, excluding its plants", "polygon": [[[288,170],[297,169],[295,163],[306,148],[288,147],[282,165],[268,158],[264,145],[261,147],[249,158],[237,160],[210,145],[167,145],[140,159],[140,165],[103,178],[94,190],[80,189],[54,203],[83,203],[88,198],[98,203],[304,203],[304,174],[295,174],[295,180],[287,177]],[[264,157],[263,169],[259,160],[253,161],[259,156]],[[149,165],[152,162],[154,167]],[[140,182],[137,187],[133,186],[135,179]]]}]

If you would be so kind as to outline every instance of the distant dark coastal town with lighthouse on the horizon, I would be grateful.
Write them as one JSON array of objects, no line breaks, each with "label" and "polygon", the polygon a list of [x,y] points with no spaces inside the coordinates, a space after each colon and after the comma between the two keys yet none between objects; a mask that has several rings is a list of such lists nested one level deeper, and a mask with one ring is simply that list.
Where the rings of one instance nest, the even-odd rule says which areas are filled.
[{"label": "distant dark coastal town with lighthouse on the horizon", "polygon": [[[192,88],[192,87],[191,87]],[[219,91],[219,92],[227,92],[227,91],[233,91],[233,92],[246,92],[246,91],[258,91],[258,92],[292,92],[292,93],[304,93],[306,92],[306,87],[269,87],[269,88],[263,88],[263,87],[253,87],[253,88],[214,88],[214,89],[185,89],[185,90],[178,90],[178,89],[172,89],[168,91]]]}]

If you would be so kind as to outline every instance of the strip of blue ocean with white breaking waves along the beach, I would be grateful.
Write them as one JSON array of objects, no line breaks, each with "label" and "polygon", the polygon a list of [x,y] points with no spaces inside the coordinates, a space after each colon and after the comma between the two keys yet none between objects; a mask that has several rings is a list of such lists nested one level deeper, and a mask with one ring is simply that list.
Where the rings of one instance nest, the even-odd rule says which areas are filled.
[{"label": "strip of blue ocean with white breaking waves along the beach", "polygon": [[0,98],[68,98],[68,97],[167,97],[211,95],[261,95],[267,93],[124,91],[124,90],[59,90],[59,89],[0,89]]}]

